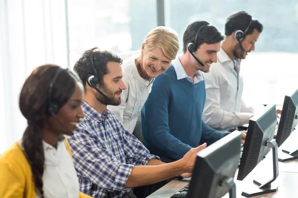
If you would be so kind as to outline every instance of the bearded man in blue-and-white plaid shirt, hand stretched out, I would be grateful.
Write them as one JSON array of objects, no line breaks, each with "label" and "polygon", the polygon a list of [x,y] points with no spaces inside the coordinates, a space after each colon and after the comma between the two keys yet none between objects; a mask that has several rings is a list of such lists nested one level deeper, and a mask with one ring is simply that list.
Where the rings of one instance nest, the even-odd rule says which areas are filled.
[{"label": "bearded man in blue-and-white plaid shirt, hand stretched out", "polygon": [[190,177],[196,153],[191,149],[176,162],[164,164],[126,131],[107,105],[121,103],[122,59],[97,48],[86,50],[74,65],[85,97],[85,117],[69,137],[80,191],[94,198],[135,198],[130,188],[154,184],[176,175]]}]

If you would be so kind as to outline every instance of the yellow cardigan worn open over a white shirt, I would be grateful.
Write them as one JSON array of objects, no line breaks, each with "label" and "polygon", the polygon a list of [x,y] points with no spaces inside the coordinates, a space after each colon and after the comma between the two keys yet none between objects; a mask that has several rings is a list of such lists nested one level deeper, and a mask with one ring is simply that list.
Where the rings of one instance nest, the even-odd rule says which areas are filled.
[{"label": "yellow cardigan worn open over a white shirt", "polygon": [[[71,157],[70,145],[65,139]],[[0,198],[36,198],[31,167],[16,142],[0,155]],[[79,192],[79,198],[91,198]]]}]

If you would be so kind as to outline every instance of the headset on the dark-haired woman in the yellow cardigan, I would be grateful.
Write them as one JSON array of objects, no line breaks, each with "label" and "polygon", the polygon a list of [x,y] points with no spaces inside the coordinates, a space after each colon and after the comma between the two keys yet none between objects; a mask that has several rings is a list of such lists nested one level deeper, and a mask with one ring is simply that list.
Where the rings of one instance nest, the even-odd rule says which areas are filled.
[{"label": "headset on the dark-haired woman in the yellow cardigan", "polygon": [[[53,116],[60,124],[61,126],[66,130],[66,132],[69,133],[69,135],[74,135],[74,132],[69,130],[62,122],[60,122],[60,120],[57,118],[57,113],[61,107],[61,104],[59,104],[59,102],[57,100],[53,100],[52,99],[52,90],[53,90],[53,86],[54,86],[54,83],[56,81],[56,79],[58,78],[59,74],[61,74],[62,72],[64,71],[64,69],[62,69],[61,67],[58,67],[51,83],[50,83],[50,86],[49,86],[49,92],[48,92],[48,111],[50,113],[51,116]],[[74,75],[72,73],[70,73],[71,76],[73,77]],[[75,76],[74,76],[75,77]],[[76,77],[75,77],[76,78]],[[77,79],[77,78],[76,78]]]}]

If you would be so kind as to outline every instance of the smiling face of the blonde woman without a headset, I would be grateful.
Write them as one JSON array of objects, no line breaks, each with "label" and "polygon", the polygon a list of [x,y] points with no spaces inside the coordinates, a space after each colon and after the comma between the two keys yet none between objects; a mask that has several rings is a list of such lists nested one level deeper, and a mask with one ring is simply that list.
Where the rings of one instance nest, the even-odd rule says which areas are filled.
[{"label": "smiling face of the blonde woman without a headset", "polygon": [[161,49],[146,50],[145,43],[142,45],[141,69],[149,78],[156,78],[170,66],[171,59],[166,58]]}]

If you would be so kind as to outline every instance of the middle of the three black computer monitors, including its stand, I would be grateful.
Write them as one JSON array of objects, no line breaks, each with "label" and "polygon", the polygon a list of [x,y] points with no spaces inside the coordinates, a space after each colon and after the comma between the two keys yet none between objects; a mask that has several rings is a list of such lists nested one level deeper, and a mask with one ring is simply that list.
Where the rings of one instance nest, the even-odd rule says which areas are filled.
[{"label": "middle of the three black computer monitors, including its stand", "polygon": [[273,178],[264,184],[253,181],[258,187],[256,189],[248,188],[252,192],[242,192],[241,195],[244,197],[264,195],[277,191],[277,187],[271,187],[271,183],[278,176],[277,144],[273,140],[276,123],[275,105],[267,105],[263,113],[256,114],[249,120],[237,180],[242,181],[265,158],[270,148],[273,150]]}]

